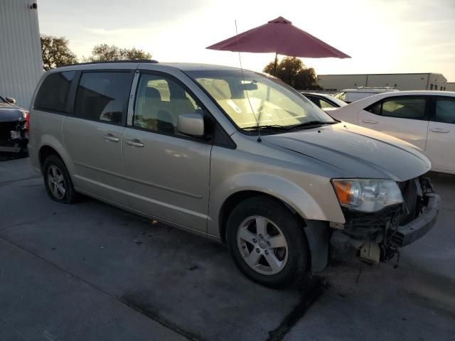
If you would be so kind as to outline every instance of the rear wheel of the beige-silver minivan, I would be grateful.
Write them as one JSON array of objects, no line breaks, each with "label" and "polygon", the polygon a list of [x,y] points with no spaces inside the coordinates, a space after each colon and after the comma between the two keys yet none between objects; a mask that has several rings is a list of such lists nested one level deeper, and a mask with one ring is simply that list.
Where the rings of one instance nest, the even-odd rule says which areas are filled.
[{"label": "rear wheel of the beige-silver minivan", "polygon": [[68,170],[63,161],[55,155],[48,156],[43,165],[45,190],[50,199],[73,204],[77,200],[77,193],[71,181]]}]

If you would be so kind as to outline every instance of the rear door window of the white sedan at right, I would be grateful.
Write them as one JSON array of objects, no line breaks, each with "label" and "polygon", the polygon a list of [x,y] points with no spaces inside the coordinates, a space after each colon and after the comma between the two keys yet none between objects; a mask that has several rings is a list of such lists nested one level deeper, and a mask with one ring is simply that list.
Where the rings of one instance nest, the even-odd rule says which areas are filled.
[{"label": "rear door window of the white sedan at right", "polygon": [[425,119],[424,98],[396,98],[382,102],[381,115],[400,119]]}]

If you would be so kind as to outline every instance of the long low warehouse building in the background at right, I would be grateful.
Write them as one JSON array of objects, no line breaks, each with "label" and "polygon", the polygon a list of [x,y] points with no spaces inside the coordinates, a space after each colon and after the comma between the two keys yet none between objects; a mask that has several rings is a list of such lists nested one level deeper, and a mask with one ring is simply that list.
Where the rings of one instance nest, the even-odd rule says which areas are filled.
[{"label": "long low warehouse building in the background at right", "polygon": [[449,90],[440,73],[370,73],[363,75],[318,75],[324,90],[338,91],[355,87],[391,87],[397,90]]}]

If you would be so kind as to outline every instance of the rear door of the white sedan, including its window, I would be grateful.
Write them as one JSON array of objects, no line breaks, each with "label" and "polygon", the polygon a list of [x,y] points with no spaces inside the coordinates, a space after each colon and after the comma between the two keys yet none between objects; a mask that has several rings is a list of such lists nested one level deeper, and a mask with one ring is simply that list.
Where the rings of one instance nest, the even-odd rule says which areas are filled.
[{"label": "rear door of the white sedan, including its window", "polygon": [[358,124],[395,136],[425,150],[428,112],[427,97],[387,97],[360,110]]}]

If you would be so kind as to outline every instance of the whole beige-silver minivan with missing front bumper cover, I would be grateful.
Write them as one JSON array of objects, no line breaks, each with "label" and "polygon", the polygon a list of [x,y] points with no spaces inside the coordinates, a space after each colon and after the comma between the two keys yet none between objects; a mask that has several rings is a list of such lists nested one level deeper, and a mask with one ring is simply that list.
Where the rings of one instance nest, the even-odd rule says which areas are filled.
[{"label": "whole beige-silver minivan with missing front bumper cover", "polygon": [[265,286],[322,271],[329,254],[389,259],[437,219],[422,153],[272,76],[73,65],[46,72],[32,103],[29,153],[51,199],[84,193],[226,243]]}]

